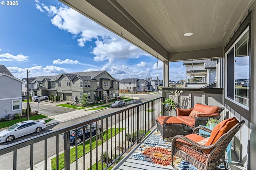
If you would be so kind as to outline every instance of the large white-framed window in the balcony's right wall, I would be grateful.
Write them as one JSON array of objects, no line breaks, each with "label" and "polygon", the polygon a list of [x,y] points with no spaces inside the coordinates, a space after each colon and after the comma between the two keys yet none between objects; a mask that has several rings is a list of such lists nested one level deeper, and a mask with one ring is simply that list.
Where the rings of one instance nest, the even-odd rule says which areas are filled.
[{"label": "large white-framed window in the balcony's right wall", "polygon": [[249,108],[250,66],[249,28],[238,37],[226,52],[226,98]]}]

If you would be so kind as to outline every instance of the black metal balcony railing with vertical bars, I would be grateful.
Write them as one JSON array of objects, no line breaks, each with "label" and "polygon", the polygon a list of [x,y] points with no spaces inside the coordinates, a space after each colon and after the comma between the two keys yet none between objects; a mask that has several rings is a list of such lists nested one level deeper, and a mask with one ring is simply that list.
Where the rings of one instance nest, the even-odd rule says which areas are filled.
[{"label": "black metal balcony railing with vertical bars", "polygon": [[[162,113],[162,100],[163,98],[160,97],[106,115],[96,115],[94,119],[1,147],[0,157],[8,161],[1,161],[0,167],[4,169],[33,169],[35,164],[43,162],[44,169],[70,169],[70,164],[75,164],[74,168],[76,169],[92,169],[94,164],[96,169],[106,169],[116,160],[122,158],[122,155],[133,145],[138,144],[145,134],[156,125],[156,118]],[[85,131],[86,125],[89,124],[92,127],[94,123],[96,129],[101,128],[102,131],[93,136],[94,132],[90,128],[88,140],[78,145],[78,129],[82,127]],[[74,147],[70,147],[71,130],[76,131]],[[83,139],[85,139],[84,134]],[[55,147],[49,147],[52,143]],[[43,148],[44,152],[39,151],[39,148]],[[56,155],[48,154],[48,151],[52,149],[56,150]],[[106,167],[103,166],[104,152],[109,155],[109,159],[106,159]],[[115,156],[112,157],[112,155]],[[51,162],[54,163],[50,163],[49,159],[53,159],[54,161]],[[80,160],[79,164],[78,160]],[[83,162],[82,168],[80,167],[81,162]]]}]

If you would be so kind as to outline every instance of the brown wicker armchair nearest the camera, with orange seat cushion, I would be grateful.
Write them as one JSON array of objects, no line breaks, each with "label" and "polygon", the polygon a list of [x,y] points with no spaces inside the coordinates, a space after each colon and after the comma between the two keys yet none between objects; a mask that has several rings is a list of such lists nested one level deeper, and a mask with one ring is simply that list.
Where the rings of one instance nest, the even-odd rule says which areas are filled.
[{"label": "brown wicker armchair nearest the camera, with orange seat cushion", "polygon": [[[223,162],[226,168],[225,150],[234,135],[244,125],[244,122],[240,121],[216,139],[217,141],[214,144],[208,146],[200,145],[186,136],[176,135],[172,139],[172,165],[175,155],[190,162],[198,169],[215,169],[216,166]],[[212,130],[206,127],[196,127],[193,134],[207,137],[211,132]]]}]

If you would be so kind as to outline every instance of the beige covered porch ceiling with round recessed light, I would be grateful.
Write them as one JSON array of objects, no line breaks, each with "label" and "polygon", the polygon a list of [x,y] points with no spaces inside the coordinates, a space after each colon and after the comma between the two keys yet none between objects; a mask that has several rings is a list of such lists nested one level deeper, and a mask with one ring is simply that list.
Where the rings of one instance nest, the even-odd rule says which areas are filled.
[{"label": "beige covered porch ceiling with round recessed light", "polygon": [[[223,57],[255,0],[59,0],[162,61]],[[184,33],[193,35],[185,37]]]}]

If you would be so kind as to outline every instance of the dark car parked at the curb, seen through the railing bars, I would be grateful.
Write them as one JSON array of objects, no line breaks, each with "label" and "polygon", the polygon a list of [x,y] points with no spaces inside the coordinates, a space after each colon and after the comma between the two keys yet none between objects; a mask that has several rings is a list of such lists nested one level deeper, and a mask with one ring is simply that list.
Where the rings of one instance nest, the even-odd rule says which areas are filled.
[{"label": "dark car parked at the curb, seen through the railing bars", "polygon": [[[90,137],[90,124],[84,126],[84,137],[85,139],[88,139]],[[69,131],[70,133],[70,143],[76,143],[76,130],[73,129]],[[98,130],[96,130],[96,124],[92,123],[92,137],[97,134],[101,133],[101,126],[98,125]],[[64,138],[64,135],[63,135]],[[77,128],[77,144],[81,143],[83,139],[83,127]],[[84,139],[84,140],[85,140]]]}]

